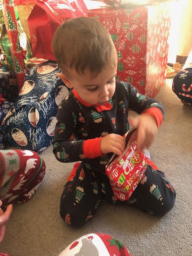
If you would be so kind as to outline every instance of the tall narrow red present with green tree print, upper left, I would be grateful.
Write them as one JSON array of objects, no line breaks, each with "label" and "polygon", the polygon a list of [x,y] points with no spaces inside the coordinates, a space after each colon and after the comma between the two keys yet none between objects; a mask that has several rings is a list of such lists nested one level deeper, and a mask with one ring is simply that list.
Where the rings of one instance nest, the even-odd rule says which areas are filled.
[{"label": "tall narrow red present with green tree print, upper left", "polygon": [[17,30],[17,22],[15,17],[15,10],[13,6],[13,0],[2,0],[4,21],[6,31],[9,38],[9,44],[11,47],[11,55],[15,66],[15,73],[17,77],[17,83],[19,90],[23,86],[23,79],[25,77],[23,53],[19,42],[19,34]]}]

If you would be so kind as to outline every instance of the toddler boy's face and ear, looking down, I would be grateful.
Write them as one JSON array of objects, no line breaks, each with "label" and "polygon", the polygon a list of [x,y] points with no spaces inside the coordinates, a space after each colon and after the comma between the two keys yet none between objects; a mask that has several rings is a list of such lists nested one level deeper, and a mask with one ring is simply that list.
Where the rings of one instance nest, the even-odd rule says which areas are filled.
[{"label": "toddler boy's face and ear, looking down", "polygon": [[[116,60],[115,60],[116,62]],[[104,68],[97,77],[92,77],[89,70],[79,75],[75,69],[68,70],[70,78],[60,73],[59,77],[67,87],[74,88],[80,98],[91,105],[105,105],[115,92],[115,75],[117,74],[117,62]]]}]

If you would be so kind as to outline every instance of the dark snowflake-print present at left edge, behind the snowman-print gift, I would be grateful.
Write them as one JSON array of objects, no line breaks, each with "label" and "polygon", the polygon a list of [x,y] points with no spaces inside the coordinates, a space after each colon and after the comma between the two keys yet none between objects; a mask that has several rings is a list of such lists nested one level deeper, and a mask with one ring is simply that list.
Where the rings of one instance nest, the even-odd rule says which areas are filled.
[{"label": "dark snowflake-print present at left edge, behind the snowman-print gift", "polygon": [[[11,107],[13,106],[13,102],[9,102],[7,100],[1,101],[1,94],[0,94],[0,124],[2,123],[4,117],[9,112]],[[5,144],[3,143],[3,132],[0,126],[0,149],[5,149]]]}]

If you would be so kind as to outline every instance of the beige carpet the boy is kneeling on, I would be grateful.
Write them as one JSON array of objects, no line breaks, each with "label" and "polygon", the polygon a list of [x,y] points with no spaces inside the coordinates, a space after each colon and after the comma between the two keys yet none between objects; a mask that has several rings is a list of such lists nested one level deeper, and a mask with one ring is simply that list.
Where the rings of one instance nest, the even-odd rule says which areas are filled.
[{"label": "beige carpet the boy is kneeling on", "polygon": [[154,162],[177,191],[168,215],[157,218],[130,205],[103,203],[85,227],[71,228],[60,218],[59,203],[73,163],[58,162],[48,147],[41,154],[47,165],[45,179],[32,200],[14,205],[0,252],[58,256],[73,240],[97,232],[122,241],[133,256],[192,256],[192,106],[181,104],[171,82],[167,79],[156,96],[164,103],[166,119],[151,147]]}]

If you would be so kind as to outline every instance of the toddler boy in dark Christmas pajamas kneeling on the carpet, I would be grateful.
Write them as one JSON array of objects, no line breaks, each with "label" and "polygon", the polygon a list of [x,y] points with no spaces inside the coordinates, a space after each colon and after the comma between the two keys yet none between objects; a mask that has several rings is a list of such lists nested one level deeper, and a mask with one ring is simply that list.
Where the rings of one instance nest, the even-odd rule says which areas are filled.
[{"label": "toddler boy in dark Christmas pajamas kneeling on the carpet", "polygon": [[128,201],[114,196],[105,172],[113,153],[124,151],[123,135],[130,128],[128,109],[141,114],[130,118],[130,125],[137,127],[138,148],[143,149],[151,145],[162,123],[162,104],[139,94],[129,83],[115,81],[116,49],[109,32],[95,19],[64,22],[55,32],[52,46],[63,71],[58,77],[73,88],[58,108],[53,153],[60,162],[81,161],[64,186],[60,201],[63,220],[82,226],[102,201],[129,203],[159,216],[170,211],[175,190],[149,159],[145,176]]}]

